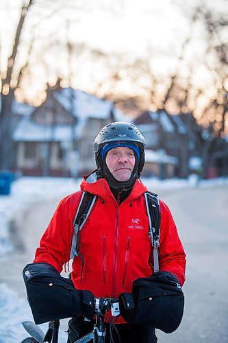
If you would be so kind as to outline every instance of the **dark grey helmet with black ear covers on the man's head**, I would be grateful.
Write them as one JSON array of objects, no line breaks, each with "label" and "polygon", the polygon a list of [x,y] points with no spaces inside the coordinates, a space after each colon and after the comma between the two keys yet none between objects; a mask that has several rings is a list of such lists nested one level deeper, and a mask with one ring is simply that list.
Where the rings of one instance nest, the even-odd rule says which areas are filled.
[{"label": "dark grey helmet with black ear covers on the man's head", "polygon": [[[131,175],[131,180],[129,180],[129,182],[124,182],[125,187],[126,187],[127,183],[132,183],[133,178],[135,181],[136,178],[140,177],[140,173],[144,166],[144,146],[145,146],[144,137],[142,136],[138,128],[134,126],[134,124],[125,123],[123,121],[116,121],[114,123],[107,124],[104,128],[102,128],[94,141],[95,158],[96,158],[99,175],[101,177],[107,176],[107,175],[104,175],[103,173],[103,161],[101,158],[101,150],[105,144],[111,143],[111,142],[119,142],[120,144],[121,142],[122,143],[129,142],[133,144],[135,143],[139,150],[137,171],[132,173],[134,175]],[[114,183],[115,184],[117,183],[118,185],[112,185],[112,186],[116,188],[120,187],[120,184],[121,184],[120,181],[118,182],[116,181]]]}]

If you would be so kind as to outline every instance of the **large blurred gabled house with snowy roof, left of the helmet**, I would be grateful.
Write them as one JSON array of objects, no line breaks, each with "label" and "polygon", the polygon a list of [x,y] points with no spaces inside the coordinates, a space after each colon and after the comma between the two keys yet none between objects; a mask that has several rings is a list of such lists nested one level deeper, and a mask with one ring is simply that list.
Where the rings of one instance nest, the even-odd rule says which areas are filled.
[{"label": "large blurred gabled house with snowy roof, left of the helmet", "polygon": [[18,122],[16,169],[32,176],[82,176],[96,167],[94,138],[110,121],[129,121],[112,102],[84,91],[47,90],[47,99]]}]

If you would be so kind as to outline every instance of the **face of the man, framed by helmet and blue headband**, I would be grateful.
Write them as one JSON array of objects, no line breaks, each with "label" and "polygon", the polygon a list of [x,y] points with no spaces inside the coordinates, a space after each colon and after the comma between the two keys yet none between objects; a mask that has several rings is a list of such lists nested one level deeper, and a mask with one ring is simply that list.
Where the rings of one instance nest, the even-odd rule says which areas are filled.
[{"label": "face of the man, framed by helmet and blue headband", "polygon": [[130,147],[114,147],[107,152],[106,165],[117,181],[129,180],[135,162],[134,150]]}]

